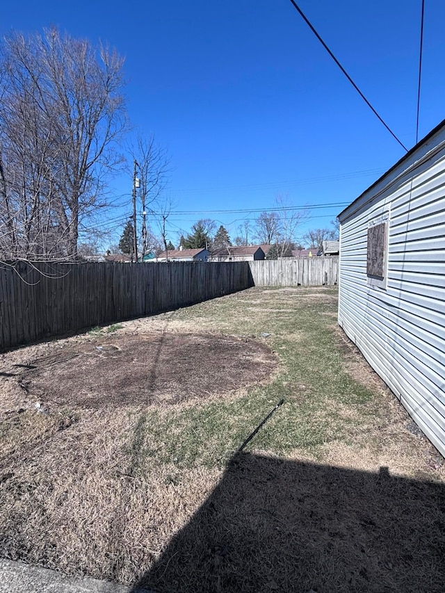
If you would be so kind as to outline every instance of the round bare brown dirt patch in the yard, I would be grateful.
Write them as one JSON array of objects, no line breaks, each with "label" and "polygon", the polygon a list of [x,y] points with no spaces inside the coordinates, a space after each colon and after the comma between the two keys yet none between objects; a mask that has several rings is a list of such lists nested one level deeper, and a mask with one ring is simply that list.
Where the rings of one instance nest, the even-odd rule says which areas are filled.
[{"label": "round bare brown dirt patch in the yard", "polygon": [[44,405],[174,405],[257,384],[277,359],[251,339],[211,334],[145,334],[97,339],[35,361],[22,379]]}]

